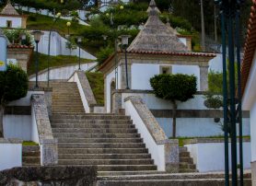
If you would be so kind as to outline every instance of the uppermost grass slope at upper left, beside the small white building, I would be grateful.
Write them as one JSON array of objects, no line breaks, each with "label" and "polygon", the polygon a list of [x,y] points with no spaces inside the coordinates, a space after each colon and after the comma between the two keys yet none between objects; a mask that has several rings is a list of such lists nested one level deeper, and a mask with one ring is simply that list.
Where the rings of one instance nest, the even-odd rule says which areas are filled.
[{"label": "uppermost grass slope at upper left, beside the small white building", "polygon": [[[34,13],[25,13],[29,15],[27,21],[27,29],[51,29],[53,24],[53,17],[47,17]],[[66,22],[70,20],[59,19],[53,27],[53,30],[57,30],[61,35],[67,34]],[[71,35],[80,35],[87,26],[79,25],[78,23],[74,23],[72,21],[71,26],[69,28],[69,32]]]}]

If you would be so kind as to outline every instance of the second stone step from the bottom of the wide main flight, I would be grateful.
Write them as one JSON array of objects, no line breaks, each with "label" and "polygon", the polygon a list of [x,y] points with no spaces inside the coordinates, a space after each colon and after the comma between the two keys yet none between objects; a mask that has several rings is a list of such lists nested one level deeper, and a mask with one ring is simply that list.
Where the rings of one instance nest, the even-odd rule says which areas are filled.
[{"label": "second stone step from the bottom of the wide main flight", "polygon": [[59,165],[153,165],[152,159],[59,159]]}]

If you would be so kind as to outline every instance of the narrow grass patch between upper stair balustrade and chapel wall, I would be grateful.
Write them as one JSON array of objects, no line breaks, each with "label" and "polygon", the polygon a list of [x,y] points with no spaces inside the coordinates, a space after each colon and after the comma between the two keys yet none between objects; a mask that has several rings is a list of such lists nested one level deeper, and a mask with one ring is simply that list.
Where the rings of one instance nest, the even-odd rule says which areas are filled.
[{"label": "narrow grass patch between upper stair balustrade and chapel wall", "polygon": [[86,73],[94,97],[99,104],[104,104],[104,77],[102,73]]}]

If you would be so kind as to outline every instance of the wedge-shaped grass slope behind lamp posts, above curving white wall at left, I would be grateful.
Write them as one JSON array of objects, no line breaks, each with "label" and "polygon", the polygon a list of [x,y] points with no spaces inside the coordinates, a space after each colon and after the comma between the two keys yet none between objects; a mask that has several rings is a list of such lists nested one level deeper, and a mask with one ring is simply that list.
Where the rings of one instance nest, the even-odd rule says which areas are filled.
[{"label": "wedge-shaped grass slope behind lamp posts, above curving white wall at left", "polygon": [[[47,56],[45,54],[39,53],[39,71],[47,68]],[[87,64],[92,62],[92,60],[81,59],[81,64]],[[70,55],[58,55],[50,56],[50,67],[63,66],[66,64],[78,64],[78,57]],[[28,67],[28,75],[33,75],[35,73],[35,52],[32,54],[31,63]]]}]

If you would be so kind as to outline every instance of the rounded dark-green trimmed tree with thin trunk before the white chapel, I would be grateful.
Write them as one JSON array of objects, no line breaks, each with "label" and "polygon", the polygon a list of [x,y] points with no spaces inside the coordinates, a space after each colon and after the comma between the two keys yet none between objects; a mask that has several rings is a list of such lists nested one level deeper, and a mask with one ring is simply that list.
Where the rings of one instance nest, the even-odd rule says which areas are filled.
[{"label": "rounded dark-green trimmed tree with thin trunk before the white chapel", "polygon": [[157,98],[167,99],[172,102],[173,130],[172,136],[176,137],[176,112],[177,101],[187,101],[192,99],[196,93],[196,77],[188,75],[157,75],[150,79]]}]

